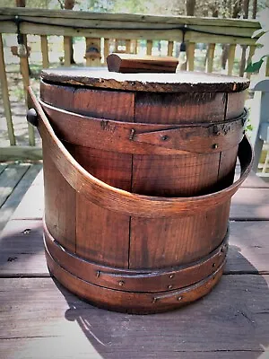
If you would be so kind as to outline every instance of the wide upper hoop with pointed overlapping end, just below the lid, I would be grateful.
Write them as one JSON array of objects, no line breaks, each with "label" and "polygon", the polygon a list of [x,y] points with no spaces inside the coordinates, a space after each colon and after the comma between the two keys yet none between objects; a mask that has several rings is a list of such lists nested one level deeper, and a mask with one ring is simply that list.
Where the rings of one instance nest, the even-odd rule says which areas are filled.
[{"label": "wide upper hoop with pointed overlapping end, just below the lid", "polygon": [[131,123],[85,117],[39,102],[61,140],[117,153],[220,153],[240,143],[247,119],[245,110],[238,118],[215,124]]}]

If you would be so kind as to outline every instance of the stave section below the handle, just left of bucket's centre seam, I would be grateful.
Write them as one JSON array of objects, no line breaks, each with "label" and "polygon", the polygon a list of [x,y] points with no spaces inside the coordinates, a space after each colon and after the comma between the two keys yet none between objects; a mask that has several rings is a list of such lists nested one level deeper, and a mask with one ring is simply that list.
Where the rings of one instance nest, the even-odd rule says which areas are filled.
[{"label": "stave section below the handle, just left of bucket's centre seam", "polygon": [[111,267],[128,267],[129,216],[89,203],[80,195],[76,204],[75,253]]}]

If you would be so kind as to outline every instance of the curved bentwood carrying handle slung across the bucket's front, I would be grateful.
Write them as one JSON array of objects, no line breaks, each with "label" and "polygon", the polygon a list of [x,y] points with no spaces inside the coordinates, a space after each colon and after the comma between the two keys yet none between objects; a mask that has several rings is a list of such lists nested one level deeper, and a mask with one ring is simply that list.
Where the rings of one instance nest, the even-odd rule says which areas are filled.
[{"label": "curved bentwood carrying handle slung across the bucket's front", "polygon": [[182,217],[199,214],[203,207],[204,210],[209,210],[213,206],[221,205],[229,200],[239,185],[247,178],[251,169],[253,152],[247,136],[244,136],[239,144],[241,176],[230,187],[221,191],[197,197],[150,197],[109,186],[93,177],[75,161],[64,144],[57,138],[39,101],[30,88],[29,93],[30,103],[36,109],[39,118],[37,126],[39,134],[42,137],[43,145],[49,148],[51,159],[55,162],[57,170],[78,193],[92,203],[111,211],[147,218]]}]

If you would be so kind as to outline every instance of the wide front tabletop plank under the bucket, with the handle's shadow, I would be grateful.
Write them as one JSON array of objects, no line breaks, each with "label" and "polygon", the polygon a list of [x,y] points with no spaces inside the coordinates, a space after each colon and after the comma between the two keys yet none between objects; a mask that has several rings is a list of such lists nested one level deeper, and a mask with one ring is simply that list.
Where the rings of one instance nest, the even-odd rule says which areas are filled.
[{"label": "wide front tabletop plank under the bucket, with the handle's shadow", "polygon": [[212,293],[185,308],[132,316],[82,302],[51,278],[2,278],[0,347],[9,338],[22,338],[26,347],[10,346],[14,357],[40,357],[31,346],[39,338],[44,358],[64,353],[168,359],[216,351],[230,351],[230,357],[234,351],[254,351],[257,358],[269,346],[268,284],[269,276],[223,276]]}]

